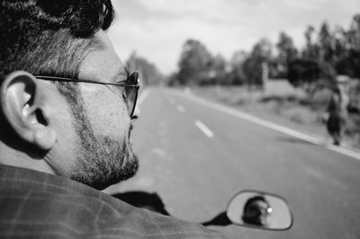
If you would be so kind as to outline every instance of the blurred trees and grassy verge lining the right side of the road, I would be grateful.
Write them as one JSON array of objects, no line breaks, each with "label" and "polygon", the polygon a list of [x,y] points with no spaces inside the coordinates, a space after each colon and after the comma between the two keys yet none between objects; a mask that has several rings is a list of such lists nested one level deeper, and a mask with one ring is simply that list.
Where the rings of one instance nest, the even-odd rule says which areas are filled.
[{"label": "blurred trees and grassy verge lining the right side of the road", "polygon": [[[127,63],[130,70],[140,72],[145,85],[189,87],[210,100],[324,137],[322,116],[341,79],[347,82],[350,100],[346,144],[360,148],[360,13],[349,20],[347,29],[326,21],[318,29],[305,26],[304,38],[305,46],[297,49],[293,39],[280,32],[277,42],[258,40],[253,49],[238,50],[229,60],[189,39],[178,69],[167,76],[136,53]],[[288,86],[283,89],[284,83]]]}]

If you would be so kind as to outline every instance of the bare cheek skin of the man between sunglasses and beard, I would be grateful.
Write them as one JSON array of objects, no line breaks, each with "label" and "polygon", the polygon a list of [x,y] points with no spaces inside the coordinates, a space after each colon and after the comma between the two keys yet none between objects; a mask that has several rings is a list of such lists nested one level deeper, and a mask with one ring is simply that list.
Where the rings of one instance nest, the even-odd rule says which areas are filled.
[{"label": "bare cheek skin of the man between sunglasses and beard", "polygon": [[121,137],[127,134],[130,117],[125,102],[105,86],[84,93],[85,109],[94,135]]}]

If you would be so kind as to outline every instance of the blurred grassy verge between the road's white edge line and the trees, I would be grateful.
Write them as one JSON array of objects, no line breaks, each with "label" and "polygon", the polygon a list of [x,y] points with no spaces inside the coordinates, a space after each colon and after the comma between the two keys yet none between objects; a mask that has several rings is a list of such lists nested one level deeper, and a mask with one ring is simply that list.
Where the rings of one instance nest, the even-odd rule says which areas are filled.
[{"label": "blurred grassy verge between the road's white edge line and the trees", "polygon": [[[331,140],[322,115],[326,112],[330,92],[316,93],[312,99],[302,93],[269,94],[248,91],[240,86],[206,86],[192,88],[192,92],[213,102],[221,102],[240,111],[312,136]],[[345,144],[360,149],[360,115],[350,113],[345,130]]]}]

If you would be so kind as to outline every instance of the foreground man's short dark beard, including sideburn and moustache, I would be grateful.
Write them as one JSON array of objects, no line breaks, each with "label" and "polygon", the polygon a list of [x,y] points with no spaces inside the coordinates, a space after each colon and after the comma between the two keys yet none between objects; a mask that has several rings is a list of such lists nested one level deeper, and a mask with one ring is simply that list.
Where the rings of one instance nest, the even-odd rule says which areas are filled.
[{"label": "foreground man's short dark beard, including sideburn and moustache", "polygon": [[121,137],[95,136],[87,117],[82,97],[71,104],[75,128],[80,137],[76,165],[70,177],[97,190],[128,180],[139,169],[138,157],[133,153],[129,134]]}]

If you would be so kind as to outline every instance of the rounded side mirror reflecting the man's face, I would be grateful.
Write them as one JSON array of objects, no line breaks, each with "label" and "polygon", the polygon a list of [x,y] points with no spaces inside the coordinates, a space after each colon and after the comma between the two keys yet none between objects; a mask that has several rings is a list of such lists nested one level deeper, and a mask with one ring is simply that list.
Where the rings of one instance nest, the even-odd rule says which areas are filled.
[{"label": "rounded side mirror reflecting the man's face", "polygon": [[266,230],[287,230],[293,216],[287,201],[277,195],[256,190],[238,192],[226,212],[231,223]]}]

